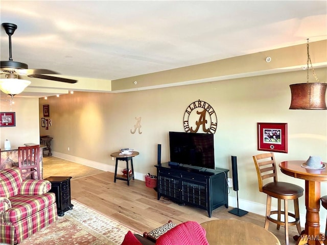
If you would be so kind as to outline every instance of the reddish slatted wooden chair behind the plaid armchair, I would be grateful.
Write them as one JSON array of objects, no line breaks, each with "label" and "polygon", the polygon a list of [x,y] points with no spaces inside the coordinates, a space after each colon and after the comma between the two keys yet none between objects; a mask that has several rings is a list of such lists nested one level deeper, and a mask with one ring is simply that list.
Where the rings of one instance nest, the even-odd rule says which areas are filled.
[{"label": "reddish slatted wooden chair behind the plaid armchair", "polygon": [[37,173],[37,179],[41,179],[40,145],[19,146],[18,167],[22,170],[22,174],[31,174],[32,179],[35,179],[35,173]]}]

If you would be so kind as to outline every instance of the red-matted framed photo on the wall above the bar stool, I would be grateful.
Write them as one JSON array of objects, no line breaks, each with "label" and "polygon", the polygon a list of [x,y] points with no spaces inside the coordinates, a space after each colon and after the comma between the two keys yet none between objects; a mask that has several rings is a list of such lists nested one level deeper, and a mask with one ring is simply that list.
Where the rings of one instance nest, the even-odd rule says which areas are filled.
[{"label": "red-matted framed photo on the wall above the bar stool", "polygon": [[287,124],[258,122],[258,151],[287,153]]}]

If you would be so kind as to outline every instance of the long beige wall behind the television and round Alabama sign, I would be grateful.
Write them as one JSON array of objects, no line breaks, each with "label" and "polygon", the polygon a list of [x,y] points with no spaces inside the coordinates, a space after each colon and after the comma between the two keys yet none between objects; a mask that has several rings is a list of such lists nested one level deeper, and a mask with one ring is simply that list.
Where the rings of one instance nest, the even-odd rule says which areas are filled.
[{"label": "long beige wall behind the television and round Alabama sign", "polygon": [[[326,68],[315,71],[320,81],[326,81]],[[257,122],[288,123],[289,151],[275,153],[277,162],[306,160],[310,155],[321,156],[327,162],[327,111],[288,109],[289,85],[305,81],[306,71],[292,71],[136,92],[75,92],[59,98],[52,96],[48,101],[40,99],[40,112],[43,104],[49,104],[52,119],[52,126],[46,132],[41,128],[41,134],[54,137],[54,155],[111,171],[114,161],[110,153],[134,148],[140,153],[134,158],[136,177],[143,180],[145,174],[156,173],[153,165],[157,144],[162,144],[162,161],[169,160],[168,132],[183,131],[186,107],[200,99],[209,103],[218,117],[216,167],[231,169],[230,156],[236,155],[239,198],[248,208],[251,203],[264,208],[266,195],[258,191],[252,160],[253,155],[262,153],[257,150]],[[142,117],[142,134],[130,132],[135,117]],[[279,180],[303,187],[305,184],[280,171]],[[230,197],[235,197],[235,192],[230,190]],[[326,183],[321,184],[321,192],[327,194]],[[300,199],[300,207],[303,216],[304,197]],[[324,210],[321,213],[325,215]]]}]

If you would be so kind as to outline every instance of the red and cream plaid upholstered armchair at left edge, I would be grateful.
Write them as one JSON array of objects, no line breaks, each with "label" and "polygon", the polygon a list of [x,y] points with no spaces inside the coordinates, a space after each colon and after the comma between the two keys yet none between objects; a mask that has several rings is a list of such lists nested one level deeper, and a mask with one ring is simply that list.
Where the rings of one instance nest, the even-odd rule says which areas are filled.
[{"label": "red and cream plaid upholstered armchair at left edge", "polygon": [[47,180],[22,180],[21,170],[0,170],[0,242],[16,244],[55,222],[55,193]]}]

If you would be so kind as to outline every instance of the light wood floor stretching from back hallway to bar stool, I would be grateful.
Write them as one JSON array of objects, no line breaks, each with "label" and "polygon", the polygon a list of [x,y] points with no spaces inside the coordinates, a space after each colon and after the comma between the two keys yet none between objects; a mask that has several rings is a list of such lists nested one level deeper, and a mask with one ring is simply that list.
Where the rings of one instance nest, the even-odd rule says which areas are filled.
[{"label": "light wood floor stretching from back hallway to bar stool", "polygon": [[[261,227],[265,223],[264,216],[248,213],[239,217],[228,213],[231,207],[226,209],[224,206],[215,209],[212,217],[209,218],[205,210],[179,206],[162,197],[157,200],[157,192],[146,187],[144,181],[132,180],[130,186],[127,186],[126,181],[121,180],[113,183],[113,173],[55,157],[44,157],[43,171],[49,176],[72,176],[72,199],[118,220],[139,234],[151,231],[167,223],[168,220],[180,224],[186,220],[202,223],[217,218],[239,219]],[[46,177],[48,176],[43,178]],[[276,230],[276,226],[270,224],[269,231],[281,241],[282,245],[285,244],[284,227]],[[290,227],[290,244],[295,244],[292,238],[294,235],[298,235],[297,231],[295,227]]]}]

